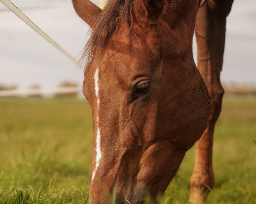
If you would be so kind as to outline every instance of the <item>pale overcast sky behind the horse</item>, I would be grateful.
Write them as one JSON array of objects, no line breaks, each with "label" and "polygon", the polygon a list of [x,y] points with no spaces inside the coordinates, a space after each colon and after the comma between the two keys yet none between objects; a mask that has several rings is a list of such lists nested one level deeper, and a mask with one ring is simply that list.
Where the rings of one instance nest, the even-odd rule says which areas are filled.
[{"label": "pale overcast sky behind the horse", "polygon": [[[37,26],[74,57],[90,34],[71,0],[12,0]],[[93,0],[93,3],[99,3]],[[195,44],[195,43],[194,43]],[[194,45],[194,57],[196,48]],[[256,83],[256,0],[234,0],[227,18],[221,81]],[[83,81],[83,69],[23,23],[0,3],[0,83],[28,88],[55,87],[64,80]]]}]

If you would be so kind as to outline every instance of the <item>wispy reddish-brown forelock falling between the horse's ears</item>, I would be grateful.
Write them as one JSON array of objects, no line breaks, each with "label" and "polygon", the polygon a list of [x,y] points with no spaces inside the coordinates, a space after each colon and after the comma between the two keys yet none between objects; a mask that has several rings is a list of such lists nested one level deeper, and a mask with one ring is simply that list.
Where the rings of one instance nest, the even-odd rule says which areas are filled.
[{"label": "wispy reddish-brown forelock falling between the horse's ears", "polygon": [[125,22],[127,28],[131,28],[134,21],[132,7],[133,0],[108,0],[92,28],[91,37],[85,45],[82,59],[87,57],[87,62],[89,62],[96,49],[97,54],[101,56],[121,20]]}]

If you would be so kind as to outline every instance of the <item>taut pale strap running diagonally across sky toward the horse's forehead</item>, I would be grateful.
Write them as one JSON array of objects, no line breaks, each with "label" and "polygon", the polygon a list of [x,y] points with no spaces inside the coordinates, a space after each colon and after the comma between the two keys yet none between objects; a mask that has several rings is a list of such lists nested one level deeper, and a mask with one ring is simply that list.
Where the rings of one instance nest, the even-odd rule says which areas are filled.
[{"label": "taut pale strap running diagonally across sky toward the horse's forehead", "polygon": [[76,59],[69,54],[66,50],[64,50],[57,42],[52,40],[44,31],[42,31],[38,26],[35,25],[25,14],[20,11],[11,1],[9,0],[0,0],[5,6],[7,6],[13,13],[17,15],[21,20],[23,20],[30,28],[36,31],[39,35],[41,35],[45,40],[51,43],[55,48],[61,51],[64,55],[66,55],[69,59],[71,59],[74,63],[76,63]]}]

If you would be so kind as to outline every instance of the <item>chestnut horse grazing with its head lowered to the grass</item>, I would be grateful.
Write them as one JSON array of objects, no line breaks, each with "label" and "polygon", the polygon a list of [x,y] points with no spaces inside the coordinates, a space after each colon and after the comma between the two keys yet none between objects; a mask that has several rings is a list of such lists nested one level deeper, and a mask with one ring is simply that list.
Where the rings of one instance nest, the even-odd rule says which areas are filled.
[{"label": "chestnut horse grazing with its head lowered to the grass", "polygon": [[141,203],[146,195],[156,201],[196,141],[189,201],[205,200],[214,184],[213,131],[232,3],[108,0],[102,10],[73,0],[92,27],[83,85],[94,127],[90,204],[110,203],[113,189],[117,204]]}]

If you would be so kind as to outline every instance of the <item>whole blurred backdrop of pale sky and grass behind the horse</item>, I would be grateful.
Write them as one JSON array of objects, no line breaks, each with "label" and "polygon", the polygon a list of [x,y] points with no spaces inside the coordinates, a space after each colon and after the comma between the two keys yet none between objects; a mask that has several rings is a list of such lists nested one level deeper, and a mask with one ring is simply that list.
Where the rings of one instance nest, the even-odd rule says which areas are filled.
[{"label": "whole blurred backdrop of pale sky and grass behind the horse", "polygon": [[[74,57],[90,37],[71,0],[13,0]],[[104,0],[93,0],[103,6]],[[256,203],[256,1],[227,18],[209,203]],[[196,46],[194,43],[196,61]],[[0,3],[0,203],[86,203],[93,130],[83,68]],[[186,203],[195,147],[162,203]],[[39,202],[40,201],[40,202]]]}]

